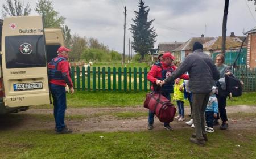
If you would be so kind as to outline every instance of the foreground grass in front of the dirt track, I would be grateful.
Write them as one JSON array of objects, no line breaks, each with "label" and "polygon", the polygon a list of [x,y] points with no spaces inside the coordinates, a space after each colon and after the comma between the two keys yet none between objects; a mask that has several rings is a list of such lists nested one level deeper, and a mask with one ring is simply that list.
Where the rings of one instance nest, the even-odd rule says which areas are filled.
[{"label": "foreground grass in front of the dirt track", "polygon": [[[1,158],[255,158],[256,134],[216,131],[205,147],[189,143],[191,130],[93,132],[0,132]],[[238,146],[240,145],[240,146]]]}]

